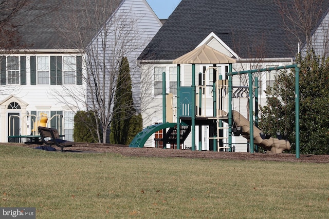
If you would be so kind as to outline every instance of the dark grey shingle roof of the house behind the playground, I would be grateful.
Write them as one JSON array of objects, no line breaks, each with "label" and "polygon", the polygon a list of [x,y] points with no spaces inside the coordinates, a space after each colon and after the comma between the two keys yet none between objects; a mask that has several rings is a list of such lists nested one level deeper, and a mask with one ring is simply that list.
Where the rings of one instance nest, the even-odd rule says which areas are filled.
[{"label": "dark grey shingle roof of the house behind the playground", "polygon": [[[294,57],[298,39],[288,35],[275,2],[182,0],[139,59],[175,59],[195,49],[211,32],[242,58]],[[328,7],[329,1],[324,1],[323,11]]]}]

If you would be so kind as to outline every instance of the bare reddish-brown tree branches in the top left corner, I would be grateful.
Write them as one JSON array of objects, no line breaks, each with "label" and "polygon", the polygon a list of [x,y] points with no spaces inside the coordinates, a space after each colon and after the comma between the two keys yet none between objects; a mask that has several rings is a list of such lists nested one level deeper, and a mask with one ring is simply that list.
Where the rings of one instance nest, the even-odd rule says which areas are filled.
[{"label": "bare reddish-brown tree branches in the top left corner", "polygon": [[[1,81],[0,94],[20,93],[17,64],[6,64],[6,56],[16,53],[19,50],[28,50],[31,46],[25,41],[26,31],[29,25],[36,24],[39,17],[56,10],[54,2],[44,4],[46,0],[0,0],[0,55],[2,73],[7,74],[9,68],[13,70],[11,78],[6,76]],[[34,13],[38,11],[38,13]],[[26,34],[29,35],[29,34]],[[12,61],[19,63],[19,57],[11,57]],[[3,72],[4,71],[4,72]]]}]

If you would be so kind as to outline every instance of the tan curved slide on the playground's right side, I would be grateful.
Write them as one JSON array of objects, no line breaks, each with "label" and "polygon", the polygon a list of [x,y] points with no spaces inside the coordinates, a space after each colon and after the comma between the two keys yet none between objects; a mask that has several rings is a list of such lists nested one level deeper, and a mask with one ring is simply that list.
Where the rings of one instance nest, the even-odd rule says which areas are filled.
[{"label": "tan curved slide on the playground's right side", "polygon": [[[237,127],[242,128],[242,135],[250,139],[250,123],[243,115],[233,110],[233,120]],[[266,153],[282,153],[282,151],[290,150],[290,143],[287,140],[279,140],[278,138],[270,137],[269,139],[263,139],[260,135],[262,131],[253,126],[253,143],[263,147]]]}]

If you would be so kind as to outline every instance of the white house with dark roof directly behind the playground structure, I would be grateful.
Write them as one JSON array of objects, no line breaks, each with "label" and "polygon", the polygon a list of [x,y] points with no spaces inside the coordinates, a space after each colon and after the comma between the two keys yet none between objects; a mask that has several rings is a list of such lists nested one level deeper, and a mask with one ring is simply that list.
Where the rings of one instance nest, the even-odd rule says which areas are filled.
[{"label": "white house with dark roof directly behind the playground structure", "polygon": [[[154,36],[143,53],[139,56],[142,68],[142,75],[153,78],[153,84],[142,92],[149,93],[149,101],[142,104],[143,125],[151,126],[162,123],[162,72],[166,72],[166,93],[172,93],[171,100],[173,118],[176,121],[176,87],[177,87],[177,65],[173,61],[196,48],[208,45],[215,51],[221,52],[236,60],[232,64],[232,71],[249,69],[270,68],[276,66],[291,65],[295,62],[299,52],[305,51],[306,39],[301,30],[291,32],[296,27],[285,19],[286,9],[294,16],[296,7],[294,1],[264,0],[264,1],[214,1],[214,0],[182,0],[175,11],[167,19]],[[319,54],[321,49],[327,45],[328,11],[329,2],[324,1],[317,6],[318,19],[312,22],[313,48]],[[289,28],[290,29],[287,29]],[[297,34],[299,37],[295,37]],[[202,75],[202,82],[212,85],[213,71],[217,71],[225,78],[229,70],[228,64],[197,64],[196,72]],[[259,104],[264,105],[266,96],[264,90],[267,86],[273,86],[275,75],[278,71],[268,71],[258,74],[259,78]],[[198,74],[195,81],[198,83]],[[180,65],[181,86],[191,86],[191,65]],[[243,75],[233,77],[235,91],[241,87],[248,86],[248,78]],[[203,91],[208,101],[212,99],[212,88]],[[242,95],[246,97],[247,95]],[[212,108],[212,106],[210,106]],[[239,111],[243,116],[248,116],[247,99],[233,98],[233,109]],[[196,127],[195,142],[202,142],[196,145],[197,150],[211,150],[210,127]],[[283,127],[284,129],[284,127]],[[224,131],[224,137],[228,131]],[[156,132],[145,143],[147,147],[159,145],[154,139],[163,137],[162,130]],[[191,136],[188,136],[184,147],[191,147]],[[226,142],[225,142],[226,141]],[[235,151],[247,151],[247,141],[241,136],[233,136]],[[224,144],[227,140],[224,139]],[[169,147],[169,146],[167,146]],[[173,147],[173,146],[171,146]]]}]

